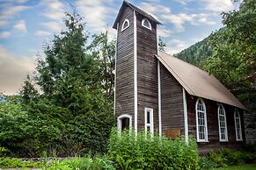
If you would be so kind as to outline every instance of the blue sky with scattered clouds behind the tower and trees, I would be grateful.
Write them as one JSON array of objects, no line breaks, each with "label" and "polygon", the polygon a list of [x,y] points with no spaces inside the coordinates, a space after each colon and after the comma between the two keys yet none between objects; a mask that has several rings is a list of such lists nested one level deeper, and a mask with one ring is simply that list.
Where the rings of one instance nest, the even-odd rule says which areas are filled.
[{"label": "blue sky with scattered clouds behind the tower and trees", "polygon": [[[179,51],[206,38],[222,27],[222,11],[236,9],[231,0],[129,0],[154,15],[168,53]],[[44,43],[62,28],[65,11],[72,4],[86,22],[86,29],[99,33],[108,29],[121,0],[0,0],[0,92],[18,92],[26,74],[32,74],[37,54],[43,56]]]}]

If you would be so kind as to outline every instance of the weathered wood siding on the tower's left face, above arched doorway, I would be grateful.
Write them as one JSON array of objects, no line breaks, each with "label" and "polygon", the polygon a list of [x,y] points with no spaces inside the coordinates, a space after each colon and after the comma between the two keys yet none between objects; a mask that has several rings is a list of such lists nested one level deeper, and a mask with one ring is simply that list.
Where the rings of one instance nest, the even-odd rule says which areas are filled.
[{"label": "weathered wood siding on the tower's left face, above arched doorway", "polygon": [[[134,13],[124,8],[118,27],[116,60],[116,116],[128,114],[134,125]],[[121,32],[121,25],[129,20],[129,27]]]}]

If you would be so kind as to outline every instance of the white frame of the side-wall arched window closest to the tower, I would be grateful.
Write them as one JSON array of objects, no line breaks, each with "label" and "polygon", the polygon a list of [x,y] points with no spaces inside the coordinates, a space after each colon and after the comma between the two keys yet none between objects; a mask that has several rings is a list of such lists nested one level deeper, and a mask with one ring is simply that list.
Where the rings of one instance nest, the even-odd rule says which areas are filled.
[{"label": "white frame of the side-wall arched window closest to the tower", "polygon": [[[197,110],[197,105],[199,103],[199,101],[201,101],[202,106],[203,106],[203,113],[204,113],[204,130],[205,130],[205,138],[204,139],[200,139],[199,138],[199,124],[198,124],[198,112],[201,112],[201,110]],[[206,114],[206,106],[204,101],[201,98],[198,98],[196,103],[195,103],[195,117],[196,117],[196,138],[197,138],[197,142],[208,142],[208,127],[207,127],[207,114]]]}]

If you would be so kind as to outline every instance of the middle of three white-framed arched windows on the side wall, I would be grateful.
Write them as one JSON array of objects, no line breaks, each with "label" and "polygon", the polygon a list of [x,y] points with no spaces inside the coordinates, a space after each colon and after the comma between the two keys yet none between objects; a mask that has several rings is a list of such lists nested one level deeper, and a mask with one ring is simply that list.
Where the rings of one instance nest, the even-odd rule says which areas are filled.
[{"label": "middle of three white-framed arched windows on the side wall", "polygon": [[218,107],[218,120],[220,141],[228,141],[226,112],[223,104],[220,104]]}]

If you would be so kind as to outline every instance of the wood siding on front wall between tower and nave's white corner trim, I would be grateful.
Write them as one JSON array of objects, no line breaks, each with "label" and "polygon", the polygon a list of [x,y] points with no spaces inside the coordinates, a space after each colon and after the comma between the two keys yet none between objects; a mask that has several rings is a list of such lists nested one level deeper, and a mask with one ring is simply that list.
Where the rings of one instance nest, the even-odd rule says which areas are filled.
[{"label": "wood siding on front wall between tower and nave's white corner trim", "polygon": [[172,74],[162,65],[161,68],[161,101],[162,131],[180,130],[184,135],[184,109],[182,87]]}]

